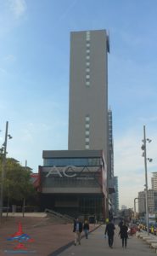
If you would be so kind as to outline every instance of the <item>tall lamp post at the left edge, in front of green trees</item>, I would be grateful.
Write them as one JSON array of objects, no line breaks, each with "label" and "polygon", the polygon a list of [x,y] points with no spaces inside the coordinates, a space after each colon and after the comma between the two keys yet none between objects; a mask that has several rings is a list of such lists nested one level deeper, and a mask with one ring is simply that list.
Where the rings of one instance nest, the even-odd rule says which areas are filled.
[{"label": "tall lamp post at the left edge, in front of green trees", "polygon": [[0,195],[0,218],[1,218],[1,221],[2,221],[2,218],[3,218],[3,183],[4,183],[4,175],[5,175],[8,138],[11,139],[12,137],[8,134],[8,121],[7,121],[6,122],[6,129],[5,129],[5,141],[3,143],[3,148],[1,148],[1,152],[2,152],[2,155],[3,155],[3,166],[2,166],[2,176],[1,176],[1,195]]}]

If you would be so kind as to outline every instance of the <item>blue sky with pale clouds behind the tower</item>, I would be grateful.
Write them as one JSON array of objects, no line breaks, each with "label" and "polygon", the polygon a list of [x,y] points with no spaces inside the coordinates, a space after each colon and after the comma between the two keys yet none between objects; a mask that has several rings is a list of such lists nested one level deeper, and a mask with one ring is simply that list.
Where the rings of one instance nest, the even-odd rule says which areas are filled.
[{"label": "blue sky with pale clouds behind the tower", "polygon": [[0,143],[37,172],[43,149],[67,149],[70,32],[110,35],[109,106],[120,207],[144,188],[143,125],[149,187],[157,172],[156,0],[0,0]]}]

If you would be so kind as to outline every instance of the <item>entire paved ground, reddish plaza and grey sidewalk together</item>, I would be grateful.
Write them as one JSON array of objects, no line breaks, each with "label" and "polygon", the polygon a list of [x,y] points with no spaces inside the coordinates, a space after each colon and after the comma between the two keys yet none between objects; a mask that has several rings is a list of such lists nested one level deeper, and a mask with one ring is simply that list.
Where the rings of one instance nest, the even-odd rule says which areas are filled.
[{"label": "entire paved ground, reddish plaza and grey sidewalk together", "polygon": [[[33,241],[25,241],[25,253],[14,251],[17,241],[7,241],[7,238],[18,229],[19,222],[25,234]],[[127,248],[121,247],[121,238],[118,236],[119,228],[115,230],[113,249],[109,248],[104,238],[105,225],[90,225],[88,239],[81,238],[81,245],[74,246],[73,224],[53,224],[48,218],[39,217],[12,217],[3,220],[0,228],[0,256],[4,255],[36,255],[36,256],[103,256],[128,255],[150,256],[156,255],[154,249],[142,238],[129,236]],[[83,233],[82,233],[83,235]],[[31,253],[32,252],[32,253]]]}]

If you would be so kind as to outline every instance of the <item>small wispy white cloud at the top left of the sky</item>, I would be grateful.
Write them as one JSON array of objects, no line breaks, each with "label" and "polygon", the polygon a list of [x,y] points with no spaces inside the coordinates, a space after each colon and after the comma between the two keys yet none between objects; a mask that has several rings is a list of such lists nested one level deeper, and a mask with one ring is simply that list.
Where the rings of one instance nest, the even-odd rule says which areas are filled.
[{"label": "small wispy white cloud at the top left of the sky", "polygon": [[16,18],[20,18],[20,16],[24,15],[27,9],[25,0],[10,0],[9,6]]}]

